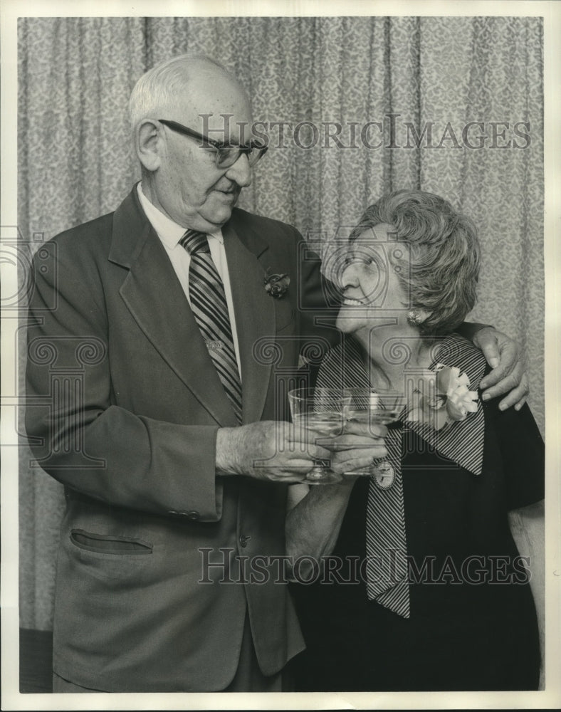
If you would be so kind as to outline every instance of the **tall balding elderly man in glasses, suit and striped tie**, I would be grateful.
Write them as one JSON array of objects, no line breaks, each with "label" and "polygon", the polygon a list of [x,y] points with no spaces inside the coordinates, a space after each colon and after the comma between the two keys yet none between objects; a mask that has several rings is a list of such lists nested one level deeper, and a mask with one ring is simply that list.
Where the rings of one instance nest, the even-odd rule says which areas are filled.
[{"label": "tall balding elderly man in glasses, suit and striped tie", "polygon": [[[28,394],[51,404],[29,405],[27,429],[66,498],[53,689],[280,690],[303,649],[279,571],[287,484],[329,453],[278,420],[277,400],[309,333],[299,293],[323,300],[319,264],[298,264],[292,227],[234,209],[263,147],[224,68],[160,64],[130,119],[142,182],[53,239],[56,271],[36,269],[31,299]],[[290,277],[281,298],[271,271]],[[284,370],[259,357],[267,343]],[[384,451],[344,445],[342,469]]]}]

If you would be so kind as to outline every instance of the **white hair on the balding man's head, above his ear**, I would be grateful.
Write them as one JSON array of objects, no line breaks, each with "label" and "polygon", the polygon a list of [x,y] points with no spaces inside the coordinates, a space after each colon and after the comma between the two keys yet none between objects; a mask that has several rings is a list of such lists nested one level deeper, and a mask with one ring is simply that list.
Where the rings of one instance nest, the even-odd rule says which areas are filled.
[{"label": "white hair on the balding man's head, above his ear", "polygon": [[157,114],[176,104],[178,96],[187,92],[196,63],[217,67],[238,83],[224,66],[204,54],[188,53],[165,59],[143,74],[130,94],[128,114],[132,131],[146,117],[167,118]]}]

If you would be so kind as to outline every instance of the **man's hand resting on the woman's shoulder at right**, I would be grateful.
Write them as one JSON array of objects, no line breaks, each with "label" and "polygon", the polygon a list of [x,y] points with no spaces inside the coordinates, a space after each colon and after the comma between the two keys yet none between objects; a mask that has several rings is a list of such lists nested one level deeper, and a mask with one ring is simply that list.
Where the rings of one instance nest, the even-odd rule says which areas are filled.
[{"label": "man's hand resting on the woman's shoulder at right", "polygon": [[473,335],[473,343],[483,351],[488,364],[493,368],[481,380],[483,400],[490,400],[508,393],[499,403],[500,410],[514,406],[520,410],[528,397],[528,375],[518,344],[507,335],[490,326]]}]

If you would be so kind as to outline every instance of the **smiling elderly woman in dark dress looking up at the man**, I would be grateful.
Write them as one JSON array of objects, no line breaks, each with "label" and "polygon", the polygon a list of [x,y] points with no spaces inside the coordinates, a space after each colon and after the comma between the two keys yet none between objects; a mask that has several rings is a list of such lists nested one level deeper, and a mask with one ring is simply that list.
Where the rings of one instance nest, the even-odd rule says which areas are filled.
[{"label": "smiling elderly woman in dark dress looking up at the man", "polygon": [[385,438],[382,463],[291,488],[301,691],[538,687],[529,580],[540,573],[543,444],[528,406],[478,399],[486,362],[453,332],[475,303],[479,263],[471,221],[426,192],[383,197],[352,232],[345,336],[317,384],[407,399],[397,427],[370,425]]}]

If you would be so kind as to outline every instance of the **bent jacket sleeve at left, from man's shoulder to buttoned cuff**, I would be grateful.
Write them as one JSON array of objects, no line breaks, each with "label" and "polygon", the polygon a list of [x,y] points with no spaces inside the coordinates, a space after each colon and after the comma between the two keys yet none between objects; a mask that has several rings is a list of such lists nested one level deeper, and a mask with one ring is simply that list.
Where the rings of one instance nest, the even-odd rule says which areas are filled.
[{"label": "bent jacket sleeve at left, from man's shoulder to buttoned cuff", "polygon": [[93,259],[72,258],[76,249],[58,249],[56,269],[33,261],[26,370],[33,455],[65,486],[99,501],[219,520],[218,426],[163,422],[115,405],[102,280]]}]

